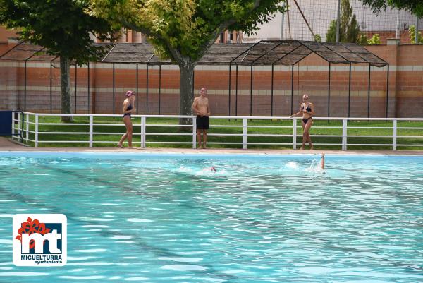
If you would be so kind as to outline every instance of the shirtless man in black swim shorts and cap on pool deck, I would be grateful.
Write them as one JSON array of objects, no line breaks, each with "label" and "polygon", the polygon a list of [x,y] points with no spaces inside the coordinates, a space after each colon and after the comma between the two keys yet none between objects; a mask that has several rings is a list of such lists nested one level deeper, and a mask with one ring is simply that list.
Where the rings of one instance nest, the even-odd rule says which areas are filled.
[{"label": "shirtless man in black swim shorts and cap on pool deck", "polygon": [[[195,97],[192,103],[192,110],[197,114],[197,140],[199,148],[207,148],[207,130],[210,127],[209,116],[210,107],[207,98],[207,89],[200,90],[200,96]],[[201,132],[203,133],[203,143],[201,144]]]}]

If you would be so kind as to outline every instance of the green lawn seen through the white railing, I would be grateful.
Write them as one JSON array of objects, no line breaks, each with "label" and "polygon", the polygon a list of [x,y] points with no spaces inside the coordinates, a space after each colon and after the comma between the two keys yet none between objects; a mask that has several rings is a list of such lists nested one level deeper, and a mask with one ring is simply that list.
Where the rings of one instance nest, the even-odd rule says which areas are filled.
[{"label": "green lawn seen through the white railing", "polygon": [[[35,122],[35,117],[31,116],[30,121]],[[211,128],[209,130],[208,142],[209,147],[215,148],[241,148],[243,138],[242,136],[220,136],[222,134],[239,134],[243,133],[241,119],[211,119]],[[69,124],[62,124],[59,117],[54,116],[39,116],[39,147],[57,146],[57,147],[87,147],[89,145],[89,135],[82,134],[89,131],[89,119],[87,117],[75,117],[75,121]],[[51,125],[51,123],[58,125]],[[268,128],[248,128],[248,134],[256,136],[248,137],[248,148],[271,148],[271,149],[291,149],[292,136],[276,137],[265,135],[292,135],[293,121],[272,121],[272,120],[248,120],[248,126],[268,126]],[[86,124],[86,125],[78,125]],[[121,135],[125,132],[125,126],[121,118],[115,117],[94,117],[94,124],[103,124],[94,126],[94,147],[115,146]],[[116,124],[117,126],[111,126]],[[133,119],[133,124],[140,124],[140,119]],[[156,126],[147,126],[146,133],[157,133],[157,135],[147,135],[147,147],[192,147],[192,128],[185,128],[183,131],[178,126],[159,126],[159,125],[175,125],[178,124],[178,119],[170,118],[147,118],[147,124],[154,124]],[[300,121],[298,121],[300,126]],[[232,126],[232,127],[226,127]],[[236,126],[236,127],[235,127]],[[276,126],[287,126],[287,128],[276,128]],[[366,127],[377,128],[366,128]],[[416,121],[398,121],[398,127],[407,127],[410,129],[398,129],[398,136],[418,136],[419,138],[398,138],[397,144],[407,146],[399,146],[397,150],[423,150],[423,147],[410,145],[423,145],[423,122]],[[24,128],[26,125],[24,125]],[[348,149],[354,150],[392,150],[392,122],[391,121],[348,121]],[[35,131],[35,125],[30,124],[30,131]],[[49,132],[49,133],[43,133]],[[75,134],[68,134],[63,132],[73,132]],[[140,126],[134,126],[135,136],[133,138],[135,145],[140,145],[140,136],[137,133],[141,132]],[[110,133],[110,134],[109,134]],[[171,136],[171,133],[185,133],[187,136]],[[302,141],[302,128],[297,128],[297,143],[300,146]],[[313,143],[319,149],[333,149],[340,150],[341,145],[319,145],[319,143],[341,144],[342,122],[341,121],[326,121],[315,120],[311,130]],[[363,136],[381,136],[378,138],[367,138]],[[383,136],[386,136],[384,138]],[[422,138],[420,138],[422,137]],[[35,139],[35,133],[30,133],[29,138]],[[87,140],[85,143],[73,143],[81,140]],[[49,141],[51,143],[44,143]],[[66,141],[66,143],[54,143],[57,141]],[[96,143],[102,142],[102,143]],[[108,142],[108,143],[106,143]],[[148,144],[150,142],[150,144]],[[176,144],[177,142],[184,142],[185,144]],[[239,144],[214,144],[214,143],[239,143]],[[250,143],[288,143],[288,145],[250,145]],[[368,144],[386,144],[385,145],[368,145]],[[33,142],[27,142],[28,145],[34,146]],[[359,145],[351,145],[359,144]],[[366,145],[360,145],[366,144]]]}]

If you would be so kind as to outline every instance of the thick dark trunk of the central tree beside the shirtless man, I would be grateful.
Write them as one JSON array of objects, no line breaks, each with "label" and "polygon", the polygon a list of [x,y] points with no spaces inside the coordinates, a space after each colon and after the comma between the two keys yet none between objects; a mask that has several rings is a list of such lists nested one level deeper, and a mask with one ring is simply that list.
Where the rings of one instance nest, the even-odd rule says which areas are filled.
[{"label": "thick dark trunk of the central tree beside the shirtless man", "polygon": [[[194,74],[195,63],[189,59],[179,64],[180,70],[180,95],[179,95],[179,115],[192,115],[192,76]],[[180,125],[192,124],[191,119],[179,119]],[[183,127],[181,127],[183,128]]]}]

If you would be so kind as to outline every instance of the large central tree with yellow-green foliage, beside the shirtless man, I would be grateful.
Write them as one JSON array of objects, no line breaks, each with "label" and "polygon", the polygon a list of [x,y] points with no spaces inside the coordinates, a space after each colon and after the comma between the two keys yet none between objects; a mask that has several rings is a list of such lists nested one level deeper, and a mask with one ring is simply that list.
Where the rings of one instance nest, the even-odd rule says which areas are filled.
[{"label": "large central tree with yellow-green foliage, beside the shirtless man", "polygon": [[[190,115],[197,62],[224,30],[246,34],[284,12],[285,0],[91,0],[94,13],[142,32],[180,69],[180,115]],[[181,119],[180,124],[188,124]]]}]

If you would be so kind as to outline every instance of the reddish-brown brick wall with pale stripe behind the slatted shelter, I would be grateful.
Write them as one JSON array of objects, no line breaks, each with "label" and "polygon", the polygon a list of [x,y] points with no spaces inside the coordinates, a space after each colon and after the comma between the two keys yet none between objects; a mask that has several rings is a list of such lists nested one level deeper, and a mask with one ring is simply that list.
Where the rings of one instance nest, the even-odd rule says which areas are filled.
[{"label": "reddish-brown brick wall with pale stripe behind the slatted shelter", "polygon": [[[388,42],[389,43],[389,42]],[[366,46],[369,51],[390,63],[388,116],[422,117],[423,105],[423,44],[386,44]],[[5,50],[4,44],[0,49]],[[22,62],[0,61],[0,109],[25,109],[31,112],[60,112],[60,74],[54,64],[50,79],[49,63],[28,62],[25,100],[25,69]],[[371,70],[368,92],[368,65],[353,64],[350,86],[350,116],[385,116],[387,67]],[[113,83],[112,64],[90,64],[90,93],[87,68],[71,68],[72,107],[78,113],[121,113],[126,90],[136,90],[139,114],[178,114],[179,71],[176,66],[139,65],[138,80],[135,65],[115,65]],[[50,88],[51,80],[51,88]],[[317,116],[348,116],[348,65],[331,64],[330,103],[328,98],[329,64],[312,54],[294,66],[293,90],[291,67],[275,66],[273,104],[271,95],[271,67],[239,66],[238,88],[235,66],[231,68],[231,99],[229,99],[228,66],[197,66],[195,95],[205,86],[209,90],[212,113],[226,115],[286,116],[298,111],[302,94],[307,92],[315,104]],[[114,88],[113,88],[114,87]],[[113,89],[115,90],[113,92]],[[148,92],[148,93],[147,93]],[[160,92],[160,93],[159,93]],[[252,100],[251,100],[252,98]],[[229,110],[229,104],[231,104]],[[420,105],[420,107],[416,107]]]}]

